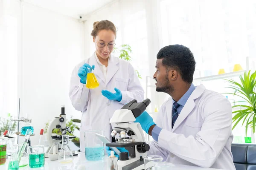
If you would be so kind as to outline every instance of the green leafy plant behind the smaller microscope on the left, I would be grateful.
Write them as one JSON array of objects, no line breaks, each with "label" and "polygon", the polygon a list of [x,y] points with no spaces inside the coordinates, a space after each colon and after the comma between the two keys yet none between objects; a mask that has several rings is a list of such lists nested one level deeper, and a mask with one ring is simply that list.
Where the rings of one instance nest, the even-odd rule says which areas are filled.
[{"label": "green leafy plant behind the smaller microscope on the left", "polygon": [[[70,119],[70,121],[66,122],[66,126],[70,127],[70,130],[74,132],[75,129],[80,130],[79,126],[76,125],[76,123],[81,123],[79,119]],[[49,126],[49,122],[46,123],[45,128],[44,128],[44,133],[47,133],[47,128]],[[52,133],[56,133],[58,135],[61,135],[61,130],[60,129],[52,129]],[[69,136],[75,136],[73,133],[67,132],[67,135]],[[71,140],[77,147],[80,147],[80,140],[79,137],[73,138]]]}]

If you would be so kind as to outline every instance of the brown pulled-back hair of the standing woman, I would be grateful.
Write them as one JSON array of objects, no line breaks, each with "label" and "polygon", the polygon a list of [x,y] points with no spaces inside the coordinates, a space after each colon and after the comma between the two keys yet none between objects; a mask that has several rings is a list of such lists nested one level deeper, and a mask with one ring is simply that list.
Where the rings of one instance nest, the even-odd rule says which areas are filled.
[{"label": "brown pulled-back hair of the standing woman", "polygon": [[111,30],[116,36],[116,27],[109,20],[96,21],[93,23],[93,31],[91,32],[91,36],[96,37],[98,32],[101,30]]}]

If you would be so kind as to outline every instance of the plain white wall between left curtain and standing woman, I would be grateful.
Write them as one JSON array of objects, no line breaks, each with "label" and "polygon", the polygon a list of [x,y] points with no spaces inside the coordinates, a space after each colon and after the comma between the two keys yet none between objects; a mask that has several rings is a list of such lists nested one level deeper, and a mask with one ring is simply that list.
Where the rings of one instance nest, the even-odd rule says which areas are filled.
[{"label": "plain white wall between left curtain and standing woman", "polygon": [[65,105],[67,117],[81,119],[71,105],[70,75],[84,56],[83,23],[27,3],[22,5],[21,116],[29,114],[37,137]]}]

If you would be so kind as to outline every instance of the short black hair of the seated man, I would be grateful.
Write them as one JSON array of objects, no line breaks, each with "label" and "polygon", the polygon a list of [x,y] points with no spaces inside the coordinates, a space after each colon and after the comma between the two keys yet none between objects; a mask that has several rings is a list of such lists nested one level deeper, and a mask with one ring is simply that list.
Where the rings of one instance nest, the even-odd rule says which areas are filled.
[{"label": "short black hair of the seated man", "polygon": [[189,48],[184,45],[168,45],[157,53],[164,66],[177,69],[184,82],[192,83],[195,72],[195,59]]}]

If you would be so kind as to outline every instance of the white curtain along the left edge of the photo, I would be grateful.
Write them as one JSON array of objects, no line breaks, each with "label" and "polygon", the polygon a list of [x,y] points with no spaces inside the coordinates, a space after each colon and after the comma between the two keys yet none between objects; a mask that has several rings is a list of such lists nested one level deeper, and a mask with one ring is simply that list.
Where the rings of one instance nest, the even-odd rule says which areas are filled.
[{"label": "white curtain along the left edge of the photo", "polygon": [[17,116],[20,1],[0,0],[0,117]]}]

